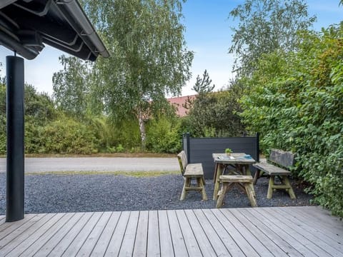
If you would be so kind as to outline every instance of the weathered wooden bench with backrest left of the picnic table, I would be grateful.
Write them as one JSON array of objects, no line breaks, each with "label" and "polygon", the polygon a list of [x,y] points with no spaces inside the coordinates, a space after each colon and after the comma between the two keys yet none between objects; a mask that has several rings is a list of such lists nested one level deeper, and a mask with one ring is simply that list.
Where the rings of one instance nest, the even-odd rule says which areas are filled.
[{"label": "weathered wooden bench with backrest left of the picnic table", "polygon": [[[181,151],[177,155],[177,158],[179,160],[182,176],[184,176],[184,186],[182,188],[180,201],[184,200],[187,191],[201,191],[202,200],[207,200],[202,163],[188,163],[187,156],[184,151]],[[196,186],[192,185],[192,178],[197,180]]]}]

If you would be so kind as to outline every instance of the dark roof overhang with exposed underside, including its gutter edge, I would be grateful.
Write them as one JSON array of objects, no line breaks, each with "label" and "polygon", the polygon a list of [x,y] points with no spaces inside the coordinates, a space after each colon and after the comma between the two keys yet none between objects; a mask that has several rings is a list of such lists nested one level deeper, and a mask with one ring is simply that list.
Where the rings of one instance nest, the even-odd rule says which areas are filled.
[{"label": "dark roof overhang with exposed underside, including its gutter edge", "polygon": [[53,46],[84,60],[109,56],[76,0],[1,0],[0,45],[34,59]]}]

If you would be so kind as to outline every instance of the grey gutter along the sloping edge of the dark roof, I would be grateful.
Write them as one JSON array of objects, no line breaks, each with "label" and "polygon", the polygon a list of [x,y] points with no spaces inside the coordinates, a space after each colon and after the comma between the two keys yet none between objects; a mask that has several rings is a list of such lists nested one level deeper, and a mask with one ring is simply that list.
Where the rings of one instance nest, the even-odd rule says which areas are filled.
[{"label": "grey gutter along the sloping edge of the dark roof", "polygon": [[96,49],[92,49],[92,51],[101,54],[101,56],[105,58],[109,57],[109,52],[102,43],[98,34],[96,34],[94,26],[92,26],[86,14],[84,14],[79,2],[76,0],[58,0],[56,1],[56,4],[63,4],[66,10],[69,11],[69,14],[72,16],[74,21],[79,24],[79,26],[82,28],[82,34],[80,36],[87,36],[91,43],[93,43],[96,47]]}]

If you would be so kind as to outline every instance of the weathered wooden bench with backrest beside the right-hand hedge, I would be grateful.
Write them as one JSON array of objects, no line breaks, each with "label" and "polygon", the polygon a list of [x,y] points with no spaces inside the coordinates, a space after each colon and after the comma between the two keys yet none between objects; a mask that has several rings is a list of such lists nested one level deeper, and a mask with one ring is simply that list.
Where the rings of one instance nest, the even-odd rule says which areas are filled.
[{"label": "weathered wooden bench with backrest beside the right-hand hedge", "polygon": [[[285,189],[290,198],[296,198],[288,178],[291,175],[288,169],[294,165],[294,157],[295,155],[292,152],[272,149],[268,162],[254,164],[254,167],[257,168],[254,185],[257,183],[257,179],[262,176],[262,173],[267,173],[269,176],[267,199],[272,198],[275,189]],[[275,178],[279,178],[280,183],[275,183]]]}]

